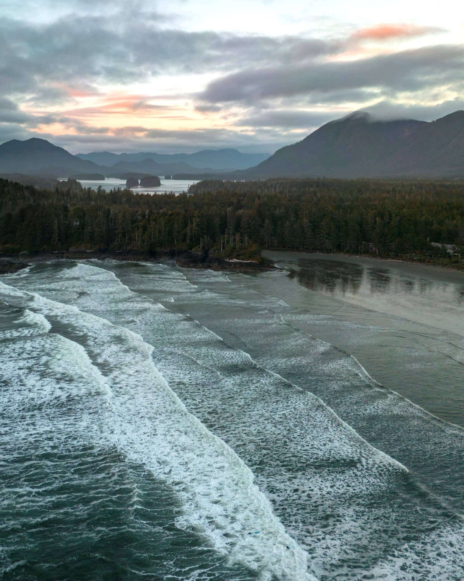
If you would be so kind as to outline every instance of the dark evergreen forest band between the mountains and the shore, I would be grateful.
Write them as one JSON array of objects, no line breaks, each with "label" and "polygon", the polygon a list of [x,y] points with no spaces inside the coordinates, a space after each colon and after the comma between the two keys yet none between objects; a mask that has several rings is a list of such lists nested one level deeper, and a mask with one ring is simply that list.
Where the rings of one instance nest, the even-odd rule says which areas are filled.
[{"label": "dark evergreen forest band between the mountains and the shore", "polygon": [[464,256],[461,181],[212,180],[179,196],[77,183],[45,190],[0,180],[1,252],[259,246],[448,259],[435,242]]}]

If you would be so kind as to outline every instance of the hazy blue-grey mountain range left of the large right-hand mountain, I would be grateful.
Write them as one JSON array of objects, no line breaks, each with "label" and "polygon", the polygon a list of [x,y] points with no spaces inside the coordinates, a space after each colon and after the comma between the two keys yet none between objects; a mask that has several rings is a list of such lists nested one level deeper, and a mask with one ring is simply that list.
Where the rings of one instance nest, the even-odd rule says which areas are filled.
[{"label": "hazy blue-grey mountain range left of the large right-hand mountain", "polygon": [[[225,152],[225,153],[224,153]],[[229,152],[229,153],[227,153]],[[211,151],[211,159],[215,159],[215,163],[220,161],[229,161],[230,165],[222,168],[215,167],[194,167],[186,162],[176,160],[176,155],[160,155],[162,159],[169,159],[171,163],[158,163],[153,159],[132,159],[132,154],[121,154],[126,156],[131,161],[121,159],[121,156],[115,153],[104,152],[102,154],[88,154],[95,155],[96,159],[117,160],[117,163],[110,165],[99,165],[91,160],[82,159],[82,157],[71,155],[66,149],[50,144],[46,139],[32,138],[26,141],[19,141],[12,139],[0,145],[0,173],[21,173],[29,175],[46,175],[48,177],[65,178],[73,174],[103,174],[107,177],[119,177],[119,174],[143,173],[154,175],[173,175],[179,173],[198,174],[204,173],[229,173],[234,171],[238,166],[246,166],[245,159],[256,160],[263,159],[267,154],[245,154],[240,153],[235,149],[224,149],[218,151]],[[135,157],[151,154],[133,154]],[[198,152],[197,154],[179,154],[179,156],[192,157],[196,159],[208,159],[208,152]],[[103,156],[103,157],[99,157]],[[109,157],[108,157],[109,156]],[[111,157],[114,156],[114,157]],[[256,157],[257,156],[257,157]],[[237,164],[234,160],[238,160]],[[197,163],[197,162],[195,162]],[[253,163],[250,161],[249,163]],[[256,161],[254,161],[256,163]],[[248,166],[249,167],[249,166]]]}]

